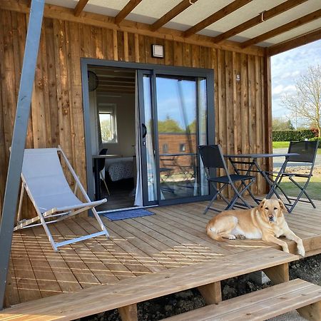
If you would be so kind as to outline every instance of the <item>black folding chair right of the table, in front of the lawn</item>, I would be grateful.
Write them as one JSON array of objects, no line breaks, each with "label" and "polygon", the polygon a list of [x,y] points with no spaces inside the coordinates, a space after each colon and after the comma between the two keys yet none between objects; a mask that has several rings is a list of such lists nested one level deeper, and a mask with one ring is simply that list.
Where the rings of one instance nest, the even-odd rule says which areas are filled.
[{"label": "black folding chair right of the table, in front of the lawn", "polygon": [[[270,192],[267,194],[267,198],[271,198],[273,194],[280,198],[277,190],[285,196],[288,203],[285,203],[287,211],[292,212],[297,202],[311,203],[313,208],[315,208],[315,203],[311,200],[310,196],[307,194],[306,188],[312,178],[312,171],[315,165],[315,156],[317,155],[317,147],[319,145],[318,141],[291,141],[287,153],[297,153],[297,156],[287,156],[285,162],[283,163],[280,172],[277,174]],[[307,164],[307,173],[292,173],[289,169],[290,165],[297,163],[297,165]],[[289,178],[289,180],[299,188],[300,193],[295,198],[290,198],[286,193],[284,188],[281,188],[280,183],[283,178]],[[298,183],[295,178],[306,178],[305,183]],[[302,195],[305,195],[307,200],[301,200]],[[294,201],[294,203],[292,203]]]}]

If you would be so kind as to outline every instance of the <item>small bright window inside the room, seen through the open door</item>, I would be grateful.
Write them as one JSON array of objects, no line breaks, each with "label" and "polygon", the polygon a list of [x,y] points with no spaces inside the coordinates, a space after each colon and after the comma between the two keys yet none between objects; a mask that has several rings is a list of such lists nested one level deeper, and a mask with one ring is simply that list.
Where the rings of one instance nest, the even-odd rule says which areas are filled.
[{"label": "small bright window inside the room, seen through the open door", "polygon": [[101,104],[99,106],[99,123],[101,126],[101,141],[117,143],[116,105]]}]

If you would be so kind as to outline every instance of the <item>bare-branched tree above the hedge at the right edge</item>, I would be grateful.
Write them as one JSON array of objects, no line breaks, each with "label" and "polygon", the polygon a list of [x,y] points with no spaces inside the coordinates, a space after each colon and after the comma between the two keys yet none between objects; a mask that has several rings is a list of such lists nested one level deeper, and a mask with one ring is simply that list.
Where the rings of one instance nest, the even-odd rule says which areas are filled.
[{"label": "bare-branched tree above the hedge at the right edge", "polygon": [[296,92],[282,96],[282,105],[295,119],[302,118],[321,137],[321,66],[309,66],[295,82]]}]

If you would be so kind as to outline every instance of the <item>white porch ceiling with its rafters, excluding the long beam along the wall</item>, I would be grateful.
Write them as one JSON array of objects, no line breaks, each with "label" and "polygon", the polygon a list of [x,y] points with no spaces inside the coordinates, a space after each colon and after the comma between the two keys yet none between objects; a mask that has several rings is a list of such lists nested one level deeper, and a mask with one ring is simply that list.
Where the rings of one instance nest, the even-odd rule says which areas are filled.
[{"label": "white porch ceiling with its rafters, excluding the long beam along the wall", "polygon": [[214,44],[236,41],[243,49],[250,46],[265,47],[270,55],[321,39],[321,0],[46,2],[73,7],[75,16],[100,9],[100,12],[110,14],[109,18],[118,26],[125,21],[149,22],[148,29],[153,32],[168,32],[169,26],[181,31],[183,39],[203,34],[210,36]]}]

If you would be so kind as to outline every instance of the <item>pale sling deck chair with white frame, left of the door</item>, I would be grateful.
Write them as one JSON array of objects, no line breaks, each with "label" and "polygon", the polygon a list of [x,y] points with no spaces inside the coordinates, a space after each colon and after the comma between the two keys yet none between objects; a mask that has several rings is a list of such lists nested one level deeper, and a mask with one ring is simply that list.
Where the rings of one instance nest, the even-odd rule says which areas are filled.
[{"label": "pale sling deck chair with white frame, left of the door", "polygon": [[[65,161],[68,170],[70,170],[71,175],[73,175],[75,180],[74,190],[71,190],[68,181],[66,180],[58,153],[61,154],[61,159]],[[105,203],[107,201],[106,198],[91,202],[60,146],[58,146],[58,148],[26,149],[24,151],[21,180],[22,185],[19,200],[18,223],[14,230],[43,225],[46,235],[55,251],[58,251],[58,247],[63,245],[87,240],[88,238],[95,238],[100,235],[106,235],[108,238],[109,235],[106,227],[103,225],[103,222],[95,209],[95,206]],[[81,200],[76,197],[78,188],[83,194],[86,203],[81,202]],[[20,221],[24,190],[26,190],[26,193],[34,204],[38,216]],[[70,218],[73,215],[89,209],[93,211],[93,215],[100,225],[100,232],[73,238],[71,240],[65,240],[59,243],[54,241],[47,224]],[[39,220],[40,223],[36,223]]]}]

